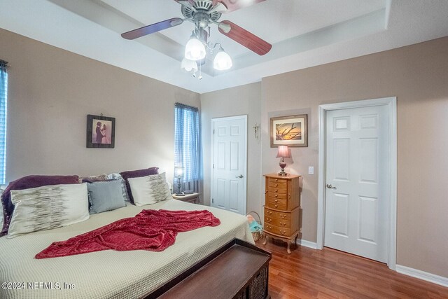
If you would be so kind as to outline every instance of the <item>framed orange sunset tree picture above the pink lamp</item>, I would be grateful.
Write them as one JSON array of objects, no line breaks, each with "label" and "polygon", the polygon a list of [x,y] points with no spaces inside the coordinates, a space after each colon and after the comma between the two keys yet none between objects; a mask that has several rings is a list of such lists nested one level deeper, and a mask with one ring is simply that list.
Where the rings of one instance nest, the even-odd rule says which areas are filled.
[{"label": "framed orange sunset tree picture above the pink lamp", "polygon": [[271,147],[308,146],[308,114],[271,118]]}]

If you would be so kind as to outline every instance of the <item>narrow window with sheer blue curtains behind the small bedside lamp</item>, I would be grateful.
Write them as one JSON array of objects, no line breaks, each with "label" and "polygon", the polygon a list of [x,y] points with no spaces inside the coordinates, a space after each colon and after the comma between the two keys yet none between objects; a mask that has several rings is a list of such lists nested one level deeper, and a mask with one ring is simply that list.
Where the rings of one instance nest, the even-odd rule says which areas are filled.
[{"label": "narrow window with sheer blue curtains behind the small bedside lamp", "polygon": [[199,192],[201,169],[199,109],[176,103],[174,122],[174,166],[183,167],[181,190]]}]

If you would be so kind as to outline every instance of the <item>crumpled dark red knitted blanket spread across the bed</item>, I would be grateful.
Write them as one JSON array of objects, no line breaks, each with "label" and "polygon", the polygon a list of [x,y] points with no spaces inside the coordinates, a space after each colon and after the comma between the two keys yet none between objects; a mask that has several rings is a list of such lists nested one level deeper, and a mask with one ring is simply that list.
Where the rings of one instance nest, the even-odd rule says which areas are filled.
[{"label": "crumpled dark red knitted blanket spread across the bed", "polygon": [[123,218],[66,241],[53,242],[37,253],[36,258],[73,256],[107,249],[163,251],[174,244],[178,232],[216,226],[220,223],[221,221],[207,210],[147,209],[132,218]]}]

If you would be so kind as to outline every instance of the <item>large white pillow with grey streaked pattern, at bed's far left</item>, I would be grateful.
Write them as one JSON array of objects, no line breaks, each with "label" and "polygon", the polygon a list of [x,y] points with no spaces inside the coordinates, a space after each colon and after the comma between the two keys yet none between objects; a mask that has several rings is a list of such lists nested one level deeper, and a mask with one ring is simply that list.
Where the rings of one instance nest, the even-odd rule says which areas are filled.
[{"label": "large white pillow with grey streaked pattern, at bed's far left", "polygon": [[11,201],[15,209],[8,238],[60,228],[90,217],[86,183],[11,190]]}]

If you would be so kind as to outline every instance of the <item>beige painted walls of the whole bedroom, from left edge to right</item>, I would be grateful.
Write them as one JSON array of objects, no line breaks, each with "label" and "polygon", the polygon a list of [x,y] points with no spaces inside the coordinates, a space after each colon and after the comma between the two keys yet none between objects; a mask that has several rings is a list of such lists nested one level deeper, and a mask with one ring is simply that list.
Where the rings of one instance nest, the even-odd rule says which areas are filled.
[{"label": "beige painted walls of the whole bedroom, from left edge to right", "polygon": [[[302,238],[316,242],[318,105],[398,99],[397,263],[448,277],[448,38],[264,78],[197,95],[0,29],[10,62],[8,180],[26,174],[98,174],[158,165],[172,176],[174,102],[202,104],[204,195],[209,202],[211,118],[248,115],[248,211],[260,211],[261,175],[279,168],[272,116],[307,113],[309,146],[292,148],[302,174]],[[88,113],[116,118],[116,148],[85,148]],[[262,141],[252,126],[262,125]],[[261,161],[261,162],[260,162]],[[314,166],[315,174],[307,174]]]}]

